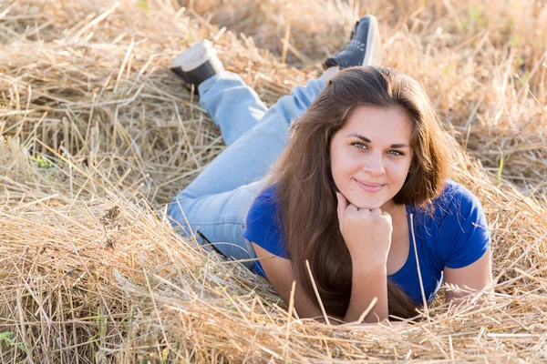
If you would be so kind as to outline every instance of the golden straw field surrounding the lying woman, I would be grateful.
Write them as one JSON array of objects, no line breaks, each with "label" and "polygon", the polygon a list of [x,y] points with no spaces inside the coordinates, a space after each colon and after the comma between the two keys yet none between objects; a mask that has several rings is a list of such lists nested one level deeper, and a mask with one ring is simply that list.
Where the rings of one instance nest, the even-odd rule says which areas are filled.
[{"label": "golden straw field surrounding the lying woman", "polygon": [[[209,38],[272,105],[365,13],[451,126],[450,177],[492,233],[489,305],[299,319],[167,221],[224,148],[173,57]],[[0,42],[1,363],[547,361],[544,2],[0,0]]]}]

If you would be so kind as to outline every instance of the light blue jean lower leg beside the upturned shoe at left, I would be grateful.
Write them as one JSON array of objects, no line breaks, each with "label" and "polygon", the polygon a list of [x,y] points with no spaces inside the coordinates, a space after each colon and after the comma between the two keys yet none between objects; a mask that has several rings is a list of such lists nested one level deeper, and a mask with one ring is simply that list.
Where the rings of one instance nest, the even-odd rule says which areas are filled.
[{"label": "light blue jean lower leg beside the upturned shoe at left", "polygon": [[223,71],[205,80],[199,86],[200,106],[221,128],[226,146],[263,118],[268,108],[253,88],[245,85],[242,77]]}]

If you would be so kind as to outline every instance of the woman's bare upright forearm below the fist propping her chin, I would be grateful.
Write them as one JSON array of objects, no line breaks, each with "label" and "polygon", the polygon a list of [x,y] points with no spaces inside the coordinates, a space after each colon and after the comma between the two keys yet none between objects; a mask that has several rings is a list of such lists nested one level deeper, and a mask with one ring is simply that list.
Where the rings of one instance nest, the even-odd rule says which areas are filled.
[{"label": "woman's bare upright forearm below the fist propping her chin", "polygon": [[351,298],[344,321],[355,322],[370,306],[374,298],[377,302],[366,315],[365,322],[378,322],[387,319],[387,268],[377,268],[354,264]]}]

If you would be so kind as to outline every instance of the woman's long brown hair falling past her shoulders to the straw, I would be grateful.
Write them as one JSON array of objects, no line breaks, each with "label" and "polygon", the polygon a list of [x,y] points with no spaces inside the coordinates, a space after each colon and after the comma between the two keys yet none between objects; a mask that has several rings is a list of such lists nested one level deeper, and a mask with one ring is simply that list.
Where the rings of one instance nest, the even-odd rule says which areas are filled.
[{"label": "woman's long brown hair falling past her shoulders to the straw", "polygon": [[[305,260],[327,314],[343,318],[352,288],[352,262],[336,215],[330,143],[356,106],[401,107],[413,122],[414,157],[397,205],[426,206],[444,187],[447,156],[444,133],[425,90],[417,81],[387,67],[353,67],[339,72],[293,122],[287,147],[269,174],[276,184],[279,223],[287,254],[304,294],[317,304]],[[416,304],[387,280],[390,315],[416,315]]]}]

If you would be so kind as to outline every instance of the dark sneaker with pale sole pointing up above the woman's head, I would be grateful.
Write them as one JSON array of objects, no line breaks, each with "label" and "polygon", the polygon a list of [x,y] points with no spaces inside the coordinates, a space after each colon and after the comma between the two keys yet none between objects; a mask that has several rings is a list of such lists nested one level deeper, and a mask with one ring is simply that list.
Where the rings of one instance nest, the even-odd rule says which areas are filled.
[{"label": "dark sneaker with pale sole pointing up above the woman's head", "polygon": [[336,56],[326,58],[325,67],[380,66],[382,43],[377,18],[365,15],[356,22],[349,43]]}]

